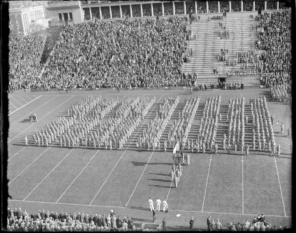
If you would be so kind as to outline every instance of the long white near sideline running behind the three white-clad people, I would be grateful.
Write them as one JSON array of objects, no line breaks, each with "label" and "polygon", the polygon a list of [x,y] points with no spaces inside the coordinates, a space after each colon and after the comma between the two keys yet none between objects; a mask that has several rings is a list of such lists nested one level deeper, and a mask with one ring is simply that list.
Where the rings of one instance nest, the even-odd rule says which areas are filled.
[{"label": "long white near sideline running behind the three white-clad people", "polygon": [[[16,202],[29,202],[29,203],[44,203],[44,204],[58,204],[58,205],[81,205],[81,206],[91,206],[91,207],[108,207],[108,208],[125,208],[125,209],[139,209],[139,210],[150,210],[149,208],[137,208],[137,207],[124,207],[124,206],[107,206],[107,205],[86,205],[86,204],[74,204],[74,203],[54,203],[54,202],[42,202],[42,201],[22,201],[22,200],[7,200],[7,201],[16,201]],[[242,214],[242,213],[220,213],[220,212],[201,212],[193,210],[170,210],[170,211],[181,211],[181,212],[194,212],[194,213],[217,213],[217,214],[239,214],[239,215],[256,215],[256,214]],[[258,214],[258,213],[257,213]],[[279,215],[268,215],[269,217],[286,217],[291,218],[292,216],[279,216]]]}]

